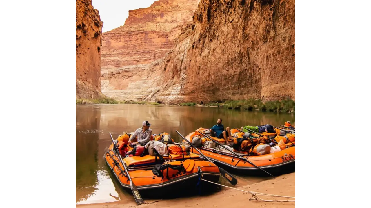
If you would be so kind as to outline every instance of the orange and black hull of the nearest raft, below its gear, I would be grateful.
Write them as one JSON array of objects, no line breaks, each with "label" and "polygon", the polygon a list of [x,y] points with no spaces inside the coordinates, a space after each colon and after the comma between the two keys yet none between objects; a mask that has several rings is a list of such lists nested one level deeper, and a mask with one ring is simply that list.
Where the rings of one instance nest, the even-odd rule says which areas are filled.
[{"label": "orange and black hull of the nearest raft, below its gear", "polygon": [[[197,188],[198,182],[201,182],[202,189],[215,189],[214,184],[200,181],[200,176],[202,175],[202,178],[205,180],[218,182],[220,172],[215,164],[201,160],[198,155],[192,152],[187,156],[174,154],[169,156],[170,158],[163,158],[165,161],[166,159],[171,161],[166,161],[162,165],[156,164],[155,162],[158,163],[158,157],[156,160],[151,155],[123,158],[132,182],[141,191],[141,194],[153,196],[155,193],[171,193],[169,192],[170,189],[174,189],[174,191],[179,191],[180,189],[188,190]],[[113,151],[113,144],[109,146],[109,150],[105,154],[105,161],[122,187],[131,189],[125,169],[118,155],[115,155]],[[160,175],[155,175],[155,172],[160,172]]]}]

